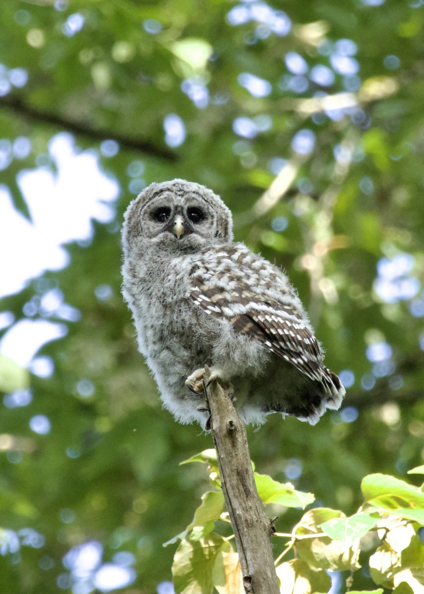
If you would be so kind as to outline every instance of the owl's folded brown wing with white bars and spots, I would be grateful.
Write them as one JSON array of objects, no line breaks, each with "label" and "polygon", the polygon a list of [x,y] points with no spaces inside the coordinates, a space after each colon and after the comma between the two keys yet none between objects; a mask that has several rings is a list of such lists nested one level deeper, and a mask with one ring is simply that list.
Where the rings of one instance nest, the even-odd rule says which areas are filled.
[{"label": "owl's folded brown wing with white bars and spots", "polygon": [[235,330],[260,341],[311,380],[319,381],[329,395],[335,394],[340,381],[324,366],[318,341],[290,305],[290,294],[282,292],[280,301],[252,290],[252,280],[258,280],[255,276],[254,270],[243,266],[224,279],[219,271],[194,267],[190,295],[207,314],[226,318]]}]

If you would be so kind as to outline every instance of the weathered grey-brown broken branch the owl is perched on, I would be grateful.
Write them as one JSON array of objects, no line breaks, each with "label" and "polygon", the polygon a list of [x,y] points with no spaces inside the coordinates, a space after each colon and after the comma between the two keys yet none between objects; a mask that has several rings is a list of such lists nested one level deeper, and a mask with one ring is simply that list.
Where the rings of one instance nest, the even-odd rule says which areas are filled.
[{"label": "weathered grey-brown broken branch the owl is perched on", "polygon": [[[210,371],[205,367],[204,380]],[[246,429],[228,394],[213,381],[207,388],[211,432],[225,503],[233,526],[246,594],[280,594],[270,537],[250,461]]]}]

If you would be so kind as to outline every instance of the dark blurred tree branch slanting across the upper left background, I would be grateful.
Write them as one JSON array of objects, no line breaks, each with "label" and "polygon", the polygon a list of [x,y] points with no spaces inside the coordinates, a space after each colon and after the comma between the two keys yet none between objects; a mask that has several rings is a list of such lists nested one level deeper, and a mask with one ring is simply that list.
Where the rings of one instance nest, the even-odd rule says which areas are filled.
[{"label": "dark blurred tree branch slanting across the upper left background", "polygon": [[52,124],[58,128],[74,132],[74,134],[85,136],[90,140],[102,141],[108,138],[116,140],[125,149],[138,150],[142,153],[147,153],[152,157],[159,157],[167,161],[176,161],[178,156],[175,152],[166,148],[156,146],[149,141],[140,140],[137,138],[128,138],[116,132],[109,132],[107,130],[99,130],[90,128],[81,122],[72,121],[55,113],[50,113],[31,105],[24,103],[19,97],[8,95],[1,97],[0,108],[7,108],[23,119],[40,122],[42,124]]}]

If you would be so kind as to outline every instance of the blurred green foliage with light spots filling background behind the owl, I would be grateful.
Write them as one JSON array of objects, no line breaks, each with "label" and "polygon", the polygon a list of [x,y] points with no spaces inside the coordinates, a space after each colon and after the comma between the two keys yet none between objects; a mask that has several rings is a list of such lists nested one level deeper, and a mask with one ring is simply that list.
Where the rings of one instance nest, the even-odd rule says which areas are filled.
[{"label": "blurred green foliage with light spots filling background behind the owl", "polygon": [[[120,194],[112,220],[67,245],[69,266],[2,302],[67,334],[39,353],[50,377],[0,361],[1,593],[87,594],[113,564],[128,594],[163,594],[162,543],[207,485],[178,463],[211,438],[161,410],[120,296],[122,214],[152,181],[219,193],[343,371],[340,412],[249,429],[260,473],[351,516],[363,476],[422,462],[423,20],[421,0],[2,3],[2,189],[30,217],[21,174],[60,172],[50,140],[67,131]],[[80,319],[40,307],[55,289]],[[279,515],[279,532],[299,521]],[[357,589],[372,587],[363,567]]]}]

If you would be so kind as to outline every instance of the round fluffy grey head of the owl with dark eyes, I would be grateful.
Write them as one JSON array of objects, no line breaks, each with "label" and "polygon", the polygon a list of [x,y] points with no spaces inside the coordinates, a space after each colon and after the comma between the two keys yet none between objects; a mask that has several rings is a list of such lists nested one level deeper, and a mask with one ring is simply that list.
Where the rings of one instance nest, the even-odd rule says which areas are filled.
[{"label": "round fluffy grey head of the owl with dark eyes", "polygon": [[122,243],[125,251],[141,240],[144,248],[195,252],[232,241],[232,226],[231,211],[219,196],[200,184],[173,179],[150,184],[129,204]]}]

